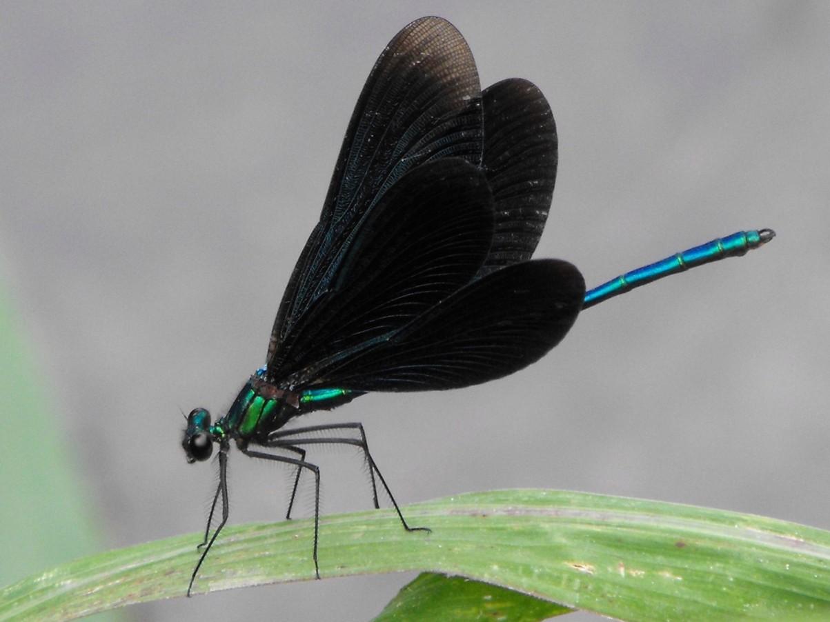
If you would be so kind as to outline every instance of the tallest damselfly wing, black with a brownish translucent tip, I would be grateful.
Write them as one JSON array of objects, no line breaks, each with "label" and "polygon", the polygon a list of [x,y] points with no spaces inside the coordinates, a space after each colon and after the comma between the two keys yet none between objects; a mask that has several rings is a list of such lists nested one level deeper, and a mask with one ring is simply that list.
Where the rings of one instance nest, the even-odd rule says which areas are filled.
[{"label": "tallest damselfly wing, black with a brownish translucent tip", "polygon": [[466,41],[451,23],[423,17],[403,28],[375,63],[355,106],[320,222],[295,265],[277,313],[267,361],[330,287],[354,231],[408,170],[435,158],[481,163],[481,85]]}]

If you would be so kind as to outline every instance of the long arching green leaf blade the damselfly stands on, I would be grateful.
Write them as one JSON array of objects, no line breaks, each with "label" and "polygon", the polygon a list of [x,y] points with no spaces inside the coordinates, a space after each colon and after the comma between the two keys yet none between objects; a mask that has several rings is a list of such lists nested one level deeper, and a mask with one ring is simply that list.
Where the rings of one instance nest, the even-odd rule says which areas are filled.
[{"label": "long arching green leaf blade the damselfly stands on", "polygon": [[[471,493],[324,517],[321,576],[467,576],[623,620],[830,619],[830,533],[789,522],[544,490]],[[194,586],[314,576],[310,520],[226,527]],[[88,557],[0,591],[0,619],[70,620],[182,596],[199,535]],[[476,605],[477,606],[477,605]]]}]

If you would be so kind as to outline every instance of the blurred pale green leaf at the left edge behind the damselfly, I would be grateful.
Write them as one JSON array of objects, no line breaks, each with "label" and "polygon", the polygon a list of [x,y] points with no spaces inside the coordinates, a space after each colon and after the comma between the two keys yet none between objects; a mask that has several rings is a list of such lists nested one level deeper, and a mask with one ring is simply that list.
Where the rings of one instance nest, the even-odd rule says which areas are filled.
[{"label": "blurred pale green leaf at the left edge behind the damselfly", "polygon": [[0,583],[5,584],[100,550],[103,543],[51,383],[33,360],[25,323],[3,285],[0,278]]}]

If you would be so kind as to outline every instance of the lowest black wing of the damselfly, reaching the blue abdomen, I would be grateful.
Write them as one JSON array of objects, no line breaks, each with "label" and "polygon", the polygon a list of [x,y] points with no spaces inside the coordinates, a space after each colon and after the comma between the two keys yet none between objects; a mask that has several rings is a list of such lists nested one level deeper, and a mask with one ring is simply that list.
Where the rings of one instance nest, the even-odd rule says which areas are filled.
[{"label": "lowest black wing of the damselfly, reaching the blue abdomen", "polygon": [[585,282],[533,260],[473,281],[382,343],[321,362],[308,386],[432,391],[476,385],[538,361],[574,324]]}]

